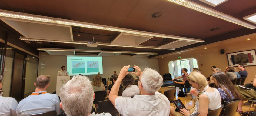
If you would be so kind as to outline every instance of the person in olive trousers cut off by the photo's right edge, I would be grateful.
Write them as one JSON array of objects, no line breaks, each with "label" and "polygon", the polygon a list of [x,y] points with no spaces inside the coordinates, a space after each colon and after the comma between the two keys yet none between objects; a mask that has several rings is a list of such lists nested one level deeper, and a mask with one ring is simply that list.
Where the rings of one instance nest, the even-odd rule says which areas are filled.
[{"label": "person in olive trousers cut off by the photo's right edge", "polygon": [[[256,87],[256,75],[255,78],[253,80],[253,86]],[[237,108],[237,112],[243,112],[243,101],[247,101],[250,99],[256,99],[256,90],[255,89],[247,89],[247,88],[243,88],[240,86],[234,86],[238,92],[241,94],[242,98],[241,101],[239,101],[238,103],[238,108]]]}]

